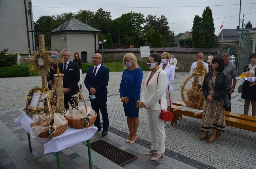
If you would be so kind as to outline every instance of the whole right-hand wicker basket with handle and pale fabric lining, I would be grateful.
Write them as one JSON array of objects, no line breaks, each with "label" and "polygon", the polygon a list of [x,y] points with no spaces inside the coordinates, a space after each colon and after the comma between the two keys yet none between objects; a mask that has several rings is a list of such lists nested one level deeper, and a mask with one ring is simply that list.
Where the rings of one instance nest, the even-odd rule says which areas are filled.
[{"label": "whole right-hand wicker basket with handle and pale fabric lining", "polygon": [[[96,120],[97,113],[90,107],[87,107],[85,98],[80,92],[72,97],[76,97],[76,101],[71,105],[72,110],[68,110],[65,113],[65,118],[69,121],[69,126],[75,129],[91,127]],[[84,101],[84,106],[77,109],[78,103],[81,100]]]}]

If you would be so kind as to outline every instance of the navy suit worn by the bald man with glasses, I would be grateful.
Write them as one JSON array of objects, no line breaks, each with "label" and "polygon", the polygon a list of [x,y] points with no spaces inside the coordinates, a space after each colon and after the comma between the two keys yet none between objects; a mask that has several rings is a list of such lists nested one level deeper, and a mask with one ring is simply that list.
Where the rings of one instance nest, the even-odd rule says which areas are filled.
[{"label": "navy suit worn by the bald man with glasses", "polygon": [[99,121],[99,110],[102,115],[103,120],[103,130],[108,130],[108,110],[107,110],[107,95],[108,95],[108,80],[109,80],[109,70],[105,66],[100,66],[96,76],[93,77],[93,67],[88,69],[88,72],[85,76],[84,84],[86,88],[89,90],[90,95],[90,88],[94,87],[96,90],[95,99],[91,99],[91,106],[92,109],[97,113],[96,121],[94,125],[98,128],[101,127]]}]

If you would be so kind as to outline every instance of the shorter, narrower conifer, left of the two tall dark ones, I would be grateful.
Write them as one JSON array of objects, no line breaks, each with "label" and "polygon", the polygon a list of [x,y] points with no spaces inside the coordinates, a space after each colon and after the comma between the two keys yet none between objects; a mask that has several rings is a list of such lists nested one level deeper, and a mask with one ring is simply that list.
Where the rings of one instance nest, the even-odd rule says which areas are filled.
[{"label": "shorter, narrower conifer, left of the two tall dark ones", "polygon": [[200,39],[200,24],[202,22],[202,18],[198,15],[194,17],[194,23],[192,27],[192,48],[200,48],[199,39]]}]

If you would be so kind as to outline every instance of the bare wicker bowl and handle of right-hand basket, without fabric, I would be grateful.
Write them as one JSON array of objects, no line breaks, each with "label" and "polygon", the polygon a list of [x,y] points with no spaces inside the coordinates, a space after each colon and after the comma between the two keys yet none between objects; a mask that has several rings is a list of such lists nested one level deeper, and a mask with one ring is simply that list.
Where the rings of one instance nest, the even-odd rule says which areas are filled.
[{"label": "bare wicker bowl and handle of right-hand basket, without fabric", "polygon": [[[85,107],[85,111],[87,112],[87,106],[86,106],[86,101],[84,99],[84,96],[82,94],[80,95],[84,100],[84,107]],[[84,127],[84,119],[73,119],[68,116],[65,116],[65,118],[69,121],[69,126],[75,129],[83,129],[83,128],[91,127],[94,124],[96,117],[97,117],[97,113],[95,113],[95,115],[91,117],[91,121],[89,122],[89,124],[86,123],[86,127]]]}]

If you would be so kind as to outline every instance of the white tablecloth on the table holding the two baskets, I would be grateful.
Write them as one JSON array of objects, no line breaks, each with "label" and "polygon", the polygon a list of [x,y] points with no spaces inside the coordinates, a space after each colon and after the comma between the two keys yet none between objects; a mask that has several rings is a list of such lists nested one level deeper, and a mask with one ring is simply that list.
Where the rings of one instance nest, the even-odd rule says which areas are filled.
[{"label": "white tablecloth on the table holding the two baskets", "polygon": [[[29,117],[26,113],[23,113],[14,121],[14,125],[20,125],[24,130],[30,133],[30,124],[32,122],[32,118]],[[74,129],[67,125],[67,129],[63,134],[49,139],[47,146],[46,143],[48,138],[37,137],[37,139],[40,139],[45,143],[44,147],[46,147],[44,148],[44,154],[47,154],[51,152],[58,152],[74,144],[89,140],[93,135],[95,135],[97,129],[97,127],[88,127],[87,133],[86,129]]]}]

